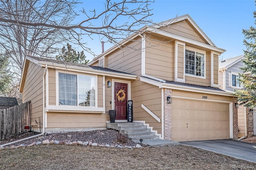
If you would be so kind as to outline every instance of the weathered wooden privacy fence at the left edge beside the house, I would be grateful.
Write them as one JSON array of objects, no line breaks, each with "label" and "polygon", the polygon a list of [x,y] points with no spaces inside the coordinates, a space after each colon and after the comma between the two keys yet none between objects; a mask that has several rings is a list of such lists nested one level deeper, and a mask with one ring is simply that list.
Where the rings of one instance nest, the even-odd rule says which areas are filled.
[{"label": "weathered wooden privacy fence at the left edge beside the house", "polygon": [[24,125],[30,125],[31,101],[0,109],[0,140],[25,132]]}]

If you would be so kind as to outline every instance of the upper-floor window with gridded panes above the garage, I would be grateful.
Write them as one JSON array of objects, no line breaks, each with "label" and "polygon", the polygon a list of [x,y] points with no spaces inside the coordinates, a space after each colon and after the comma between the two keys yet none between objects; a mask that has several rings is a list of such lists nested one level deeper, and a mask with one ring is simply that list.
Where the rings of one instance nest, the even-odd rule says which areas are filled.
[{"label": "upper-floor window with gridded panes above the garage", "polygon": [[204,77],[204,54],[186,49],[185,73]]}]

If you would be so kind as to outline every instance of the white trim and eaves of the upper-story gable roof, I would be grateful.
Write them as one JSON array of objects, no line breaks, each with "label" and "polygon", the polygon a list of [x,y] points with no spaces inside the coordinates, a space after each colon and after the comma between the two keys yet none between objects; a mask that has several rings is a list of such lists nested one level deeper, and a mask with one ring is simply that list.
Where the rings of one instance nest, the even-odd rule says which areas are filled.
[{"label": "white trim and eaves of the upper-story gable roof", "polygon": [[[206,42],[208,42],[210,45],[206,44],[206,43],[201,43],[201,42],[197,42],[195,40],[191,40],[189,38],[186,38],[186,37],[182,37],[182,36],[178,36],[176,34],[172,34],[172,33],[169,33],[169,32],[166,32],[166,31],[163,31],[163,30],[160,30],[161,27],[163,26],[166,26],[166,24],[174,24],[176,22],[180,22],[182,20],[188,20],[188,22],[190,22],[190,24],[192,24],[192,26],[198,31],[198,33],[206,40]],[[152,33],[156,33],[156,34],[159,34],[159,35],[163,35],[163,36],[167,36],[167,37],[170,37],[172,39],[176,39],[176,40],[180,40],[180,41],[184,41],[184,42],[188,42],[188,43],[192,43],[192,44],[197,44],[199,46],[202,46],[204,48],[207,48],[207,49],[211,49],[211,50],[214,50],[214,51],[218,51],[220,53],[223,53],[225,52],[226,50],[225,49],[221,49],[221,48],[218,48],[216,47],[216,45],[214,45],[214,43],[206,36],[206,34],[204,34],[204,32],[198,27],[198,25],[194,22],[194,20],[192,20],[192,18],[186,14],[186,15],[183,15],[183,16],[179,16],[179,17],[176,17],[176,18],[173,18],[171,20],[167,20],[167,21],[164,21],[164,22],[160,22],[158,24],[154,24],[154,25],[151,25],[151,26],[144,26],[142,28],[140,28],[138,30],[138,32],[136,33],[133,33],[131,36],[129,36],[127,38],[127,40],[122,40],[119,44],[120,45],[123,45],[131,40],[133,40],[134,38],[136,38],[137,36],[141,36],[139,34],[139,32],[152,32]],[[109,53],[111,53],[112,51],[120,48],[120,45],[118,46],[112,46],[111,48],[109,48],[108,50],[104,51],[103,53],[101,53],[100,55],[98,55],[97,57],[95,57],[92,61],[90,61],[88,63],[88,65],[94,63],[95,61],[97,61],[100,57],[104,56],[104,55],[107,55]]]}]

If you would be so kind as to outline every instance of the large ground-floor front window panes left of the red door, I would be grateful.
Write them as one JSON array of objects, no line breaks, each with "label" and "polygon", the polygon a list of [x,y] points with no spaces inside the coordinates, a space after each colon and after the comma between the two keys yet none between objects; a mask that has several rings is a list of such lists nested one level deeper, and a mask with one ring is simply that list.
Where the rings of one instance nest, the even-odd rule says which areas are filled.
[{"label": "large ground-floor front window panes left of the red door", "polygon": [[96,77],[59,73],[59,105],[95,107]]}]

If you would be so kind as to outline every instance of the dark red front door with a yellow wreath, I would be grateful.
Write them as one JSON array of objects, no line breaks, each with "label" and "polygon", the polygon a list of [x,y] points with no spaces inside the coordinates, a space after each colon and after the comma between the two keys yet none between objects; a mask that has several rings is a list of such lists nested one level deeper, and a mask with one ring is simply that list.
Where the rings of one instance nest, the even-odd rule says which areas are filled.
[{"label": "dark red front door with a yellow wreath", "polygon": [[127,92],[126,83],[115,83],[116,120],[127,120]]}]

